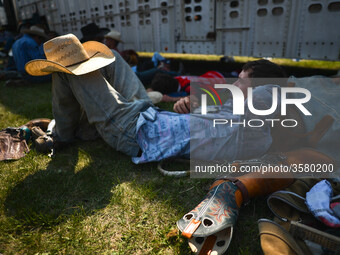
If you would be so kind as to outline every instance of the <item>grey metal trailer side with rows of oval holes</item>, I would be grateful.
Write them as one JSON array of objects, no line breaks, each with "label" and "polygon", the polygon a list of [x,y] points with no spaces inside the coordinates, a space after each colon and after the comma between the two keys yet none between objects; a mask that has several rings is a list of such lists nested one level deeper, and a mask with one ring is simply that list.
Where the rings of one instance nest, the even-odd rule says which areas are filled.
[{"label": "grey metal trailer side with rows of oval holes", "polygon": [[335,0],[12,0],[20,20],[81,37],[95,22],[122,33],[123,49],[340,60]]}]

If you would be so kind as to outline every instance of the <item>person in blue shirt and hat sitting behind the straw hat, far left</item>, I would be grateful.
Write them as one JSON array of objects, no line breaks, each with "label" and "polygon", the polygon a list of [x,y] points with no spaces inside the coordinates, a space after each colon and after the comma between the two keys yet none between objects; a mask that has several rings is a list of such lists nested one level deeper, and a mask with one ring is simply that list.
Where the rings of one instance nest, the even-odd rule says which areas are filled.
[{"label": "person in blue shirt and hat sitting behind the straw hat, far left", "polygon": [[47,82],[51,76],[31,76],[25,71],[27,62],[45,58],[42,43],[48,38],[45,31],[38,26],[22,30],[23,36],[13,43],[12,54],[18,75],[8,80],[6,85],[26,85],[30,82]]}]

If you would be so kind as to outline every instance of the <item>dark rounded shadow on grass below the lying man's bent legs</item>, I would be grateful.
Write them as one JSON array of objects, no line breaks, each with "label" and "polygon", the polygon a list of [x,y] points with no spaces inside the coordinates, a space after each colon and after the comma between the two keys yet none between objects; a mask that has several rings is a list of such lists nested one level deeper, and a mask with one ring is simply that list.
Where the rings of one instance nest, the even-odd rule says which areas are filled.
[{"label": "dark rounded shadow on grass below the lying man's bent legs", "polygon": [[[77,211],[94,212],[110,203],[115,185],[133,178],[134,172],[124,169],[127,162],[102,141],[72,145],[18,183],[5,206],[30,227],[54,225]],[[32,214],[42,222],[31,222]]]}]

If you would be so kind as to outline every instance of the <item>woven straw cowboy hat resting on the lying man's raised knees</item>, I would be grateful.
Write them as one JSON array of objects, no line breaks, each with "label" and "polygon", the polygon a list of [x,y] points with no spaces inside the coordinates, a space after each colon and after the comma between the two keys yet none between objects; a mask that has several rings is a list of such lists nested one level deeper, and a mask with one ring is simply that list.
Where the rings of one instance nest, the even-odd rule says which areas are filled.
[{"label": "woven straw cowboy hat resting on the lying man's raised knees", "polygon": [[104,44],[88,41],[83,44],[73,34],[53,38],[44,43],[47,59],[35,59],[25,66],[30,75],[41,76],[54,72],[82,75],[115,61],[112,51]]}]

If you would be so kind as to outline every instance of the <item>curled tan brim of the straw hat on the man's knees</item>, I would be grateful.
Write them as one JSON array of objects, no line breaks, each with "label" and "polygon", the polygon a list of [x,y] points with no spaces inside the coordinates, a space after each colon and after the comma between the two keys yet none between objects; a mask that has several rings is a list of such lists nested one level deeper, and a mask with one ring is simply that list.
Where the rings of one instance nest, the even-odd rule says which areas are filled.
[{"label": "curled tan brim of the straw hat on the man's knees", "polygon": [[98,70],[115,61],[115,56],[112,51],[102,43],[88,41],[83,43],[83,47],[90,58],[79,64],[63,66],[54,61],[35,59],[25,65],[25,70],[28,74],[33,76],[43,76],[55,72],[83,75]]}]

